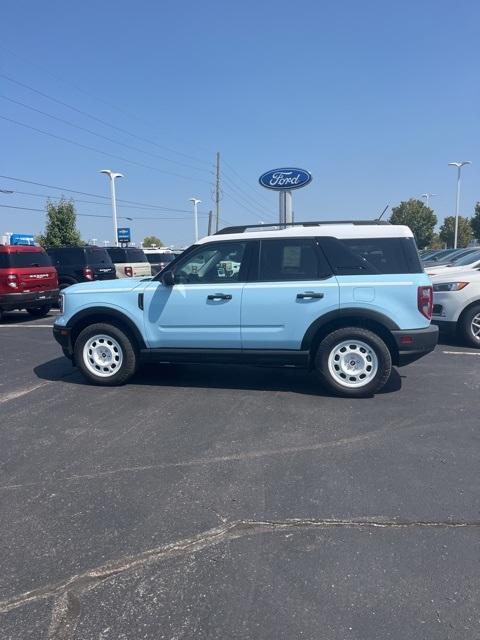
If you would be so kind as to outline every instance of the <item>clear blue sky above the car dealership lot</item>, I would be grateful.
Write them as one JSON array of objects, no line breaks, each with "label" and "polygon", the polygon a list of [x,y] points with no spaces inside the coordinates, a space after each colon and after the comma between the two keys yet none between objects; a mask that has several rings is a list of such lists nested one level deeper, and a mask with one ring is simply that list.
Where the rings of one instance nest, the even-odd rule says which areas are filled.
[{"label": "clear blue sky above the car dealership lot", "polygon": [[[430,191],[441,220],[455,202],[447,164],[471,160],[470,215],[480,199],[479,20],[474,0],[4,0],[0,174],[108,196],[98,171],[121,171],[119,199],[176,210],[119,202],[120,216],[136,218],[134,240],[154,233],[177,246],[192,241],[188,198],[213,207],[217,150],[228,163],[225,223],[274,219],[276,194],[258,176],[288,165],[313,174],[295,192],[297,219],[366,218]],[[0,189],[15,191],[0,204],[34,209],[45,199],[18,191],[61,193],[4,178]],[[110,213],[100,198],[78,199],[89,200],[79,213]],[[0,208],[0,233],[43,225],[41,212]],[[79,227],[85,239],[112,239],[108,218],[80,217]]]}]

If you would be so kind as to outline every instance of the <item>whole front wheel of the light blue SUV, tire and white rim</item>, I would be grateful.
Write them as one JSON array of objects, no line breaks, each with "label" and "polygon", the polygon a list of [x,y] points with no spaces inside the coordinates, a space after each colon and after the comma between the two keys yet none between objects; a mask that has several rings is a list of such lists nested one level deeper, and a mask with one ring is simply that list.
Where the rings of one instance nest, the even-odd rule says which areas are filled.
[{"label": "whole front wheel of the light blue SUV, tire and white rim", "polygon": [[137,369],[138,357],[129,336],[111,324],[92,324],[75,341],[75,363],[94,384],[124,384]]}]

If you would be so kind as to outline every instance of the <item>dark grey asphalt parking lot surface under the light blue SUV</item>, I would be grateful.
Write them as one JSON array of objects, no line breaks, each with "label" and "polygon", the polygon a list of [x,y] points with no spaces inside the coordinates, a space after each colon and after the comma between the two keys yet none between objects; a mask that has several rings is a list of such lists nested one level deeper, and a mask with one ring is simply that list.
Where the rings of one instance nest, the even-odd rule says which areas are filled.
[{"label": "dark grey asphalt parking lot surface under the light blue SUV", "polygon": [[0,325],[2,640],[480,638],[480,352],[104,389],[52,322]]}]

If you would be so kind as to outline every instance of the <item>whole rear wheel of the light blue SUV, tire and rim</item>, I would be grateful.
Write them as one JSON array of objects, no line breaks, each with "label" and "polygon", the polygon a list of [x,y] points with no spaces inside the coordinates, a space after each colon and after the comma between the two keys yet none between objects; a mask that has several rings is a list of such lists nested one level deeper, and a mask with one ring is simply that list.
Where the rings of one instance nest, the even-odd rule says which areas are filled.
[{"label": "whole rear wheel of the light blue SUV, tire and rim", "polygon": [[[342,343],[349,341],[352,341],[352,345],[345,347],[345,356],[342,356],[339,347]],[[358,351],[353,348],[355,345],[357,345]],[[368,350],[363,345],[366,345]],[[370,371],[374,371],[375,357],[373,354],[369,354],[369,350],[376,357],[377,370],[375,374],[370,374]],[[329,368],[330,357],[335,375]],[[343,366],[341,362],[339,364],[339,360],[343,357],[345,360],[352,357],[352,363],[358,360],[359,373],[356,373],[356,369],[352,369],[351,375],[348,372],[344,373],[344,367],[350,365],[348,362]],[[352,367],[355,366],[352,364]],[[333,394],[347,398],[365,398],[379,391],[390,378],[392,357],[387,345],[376,333],[360,327],[344,327],[332,331],[322,340],[315,355],[315,368],[323,385]],[[368,382],[362,382],[362,376],[364,376],[363,379],[368,380],[370,375],[373,377]]]}]

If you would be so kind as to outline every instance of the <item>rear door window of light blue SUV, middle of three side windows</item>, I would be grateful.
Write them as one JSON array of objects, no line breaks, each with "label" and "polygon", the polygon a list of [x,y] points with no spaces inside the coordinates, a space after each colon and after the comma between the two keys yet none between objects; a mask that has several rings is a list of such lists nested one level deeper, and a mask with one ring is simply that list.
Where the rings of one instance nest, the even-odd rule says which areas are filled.
[{"label": "rear door window of light blue SUV, middle of three side windows", "polygon": [[316,280],[328,275],[331,275],[331,270],[319,254],[313,238],[261,241],[259,280]]}]

